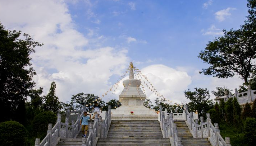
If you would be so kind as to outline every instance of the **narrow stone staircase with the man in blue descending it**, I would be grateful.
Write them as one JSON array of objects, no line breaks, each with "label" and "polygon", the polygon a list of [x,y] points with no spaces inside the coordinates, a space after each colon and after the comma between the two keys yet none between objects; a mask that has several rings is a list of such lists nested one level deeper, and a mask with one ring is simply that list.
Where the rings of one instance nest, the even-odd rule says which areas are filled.
[{"label": "narrow stone staircase with the man in blue descending it", "polygon": [[[94,121],[88,122],[88,125],[90,123],[93,124],[93,122]],[[82,133],[82,131],[80,131],[77,138],[60,138],[60,141],[57,144],[57,146],[81,146],[82,145],[82,136],[83,136],[83,133]],[[86,136],[89,136],[89,129],[87,131]]]}]

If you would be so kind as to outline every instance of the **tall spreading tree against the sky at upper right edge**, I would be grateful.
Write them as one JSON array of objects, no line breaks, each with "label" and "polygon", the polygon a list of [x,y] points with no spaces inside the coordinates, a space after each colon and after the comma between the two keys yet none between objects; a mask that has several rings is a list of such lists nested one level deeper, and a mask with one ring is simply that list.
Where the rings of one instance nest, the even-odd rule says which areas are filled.
[{"label": "tall spreading tree against the sky at upper right edge", "polygon": [[240,76],[246,85],[248,79],[255,76],[256,70],[256,5],[248,0],[248,20],[238,30],[223,30],[224,36],[210,41],[204,51],[199,53],[210,67],[200,73],[218,78]]}]

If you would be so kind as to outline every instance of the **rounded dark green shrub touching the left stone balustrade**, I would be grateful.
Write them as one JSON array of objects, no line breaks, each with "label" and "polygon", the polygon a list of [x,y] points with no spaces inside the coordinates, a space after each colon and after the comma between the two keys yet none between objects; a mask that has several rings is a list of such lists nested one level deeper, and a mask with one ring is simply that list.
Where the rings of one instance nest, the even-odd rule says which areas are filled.
[{"label": "rounded dark green shrub touching the left stone balustrade", "polygon": [[32,121],[34,134],[40,138],[44,138],[46,136],[48,124],[52,123],[52,126],[54,126],[56,120],[57,116],[51,111],[37,114]]}]

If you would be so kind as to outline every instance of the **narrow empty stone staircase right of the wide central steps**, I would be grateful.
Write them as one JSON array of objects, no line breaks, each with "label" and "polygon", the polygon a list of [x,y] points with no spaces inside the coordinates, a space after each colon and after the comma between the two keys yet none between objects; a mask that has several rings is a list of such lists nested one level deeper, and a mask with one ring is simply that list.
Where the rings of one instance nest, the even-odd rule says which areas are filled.
[{"label": "narrow empty stone staircase right of the wide central steps", "polygon": [[178,137],[182,138],[183,146],[211,146],[208,138],[193,138],[185,121],[174,121],[177,125]]}]

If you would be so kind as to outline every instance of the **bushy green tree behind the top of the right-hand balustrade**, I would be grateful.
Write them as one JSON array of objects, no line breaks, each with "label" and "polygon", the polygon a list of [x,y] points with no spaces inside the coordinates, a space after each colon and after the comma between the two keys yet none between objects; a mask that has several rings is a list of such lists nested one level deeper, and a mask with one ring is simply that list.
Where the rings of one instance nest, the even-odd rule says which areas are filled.
[{"label": "bushy green tree behind the top of the right-hand balustrade", "polygon": [[206,116],[206,112],[213,108],[212,99],[210,99],[209,90],[195,88],[195,91],[184,91],[185,97],[190,100],[188,103],[189,109],[192,111],[198,110],[198,116]]}]

